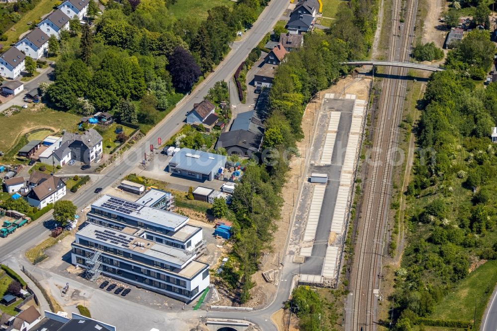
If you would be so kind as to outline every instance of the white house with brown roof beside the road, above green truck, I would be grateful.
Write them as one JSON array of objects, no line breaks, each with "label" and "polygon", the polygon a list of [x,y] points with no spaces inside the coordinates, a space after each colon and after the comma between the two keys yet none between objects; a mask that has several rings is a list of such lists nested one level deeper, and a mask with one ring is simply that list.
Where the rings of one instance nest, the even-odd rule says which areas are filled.
[{"label": "white house with brown roof beside the road, above green truck", "polygon": [[33,171],[28,179],[28,203],[39,209],[55,203],[66,195],[66,184],[61,178],[40,171]]}]

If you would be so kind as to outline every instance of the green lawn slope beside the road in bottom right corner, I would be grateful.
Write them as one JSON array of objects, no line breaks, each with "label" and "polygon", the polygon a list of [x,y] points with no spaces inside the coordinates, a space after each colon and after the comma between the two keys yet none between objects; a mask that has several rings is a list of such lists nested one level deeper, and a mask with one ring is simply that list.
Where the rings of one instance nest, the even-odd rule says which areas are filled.
[{"label": "green lawn slope beside the road in bottom right corner", "polygon": [[473,321],[476,303],[476,329],[497,283],[497,260],[486,262],[463,279],[436,305],[434,319]]}]

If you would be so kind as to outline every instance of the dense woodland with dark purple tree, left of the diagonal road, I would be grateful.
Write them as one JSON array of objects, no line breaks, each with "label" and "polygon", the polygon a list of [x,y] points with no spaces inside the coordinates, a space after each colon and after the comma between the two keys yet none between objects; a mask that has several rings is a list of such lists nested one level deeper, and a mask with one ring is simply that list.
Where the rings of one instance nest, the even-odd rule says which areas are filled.
[{"label": "dense woodland with dark purple tree, left of the diagonal road", "polygon": [[80,115],[117,112],[147,131],[219,64],[236,32],[249,28],[267,4],[241,0],[200,20],[170,15],[172,3],[109,1],[94,33],[88,25],[72,26],[72,37],[61,38],[55,82],[46,91],[51,105]]}]

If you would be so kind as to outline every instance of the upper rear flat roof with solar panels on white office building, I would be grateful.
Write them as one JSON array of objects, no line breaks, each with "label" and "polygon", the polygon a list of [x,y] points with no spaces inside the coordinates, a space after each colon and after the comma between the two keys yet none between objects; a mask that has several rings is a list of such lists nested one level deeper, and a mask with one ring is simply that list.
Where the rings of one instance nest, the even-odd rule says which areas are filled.
[{"label": "upper rear flat roof with solar panels on white office building", "polygon": [[141,221],[160,225],[172,229],[172,231],[177,231],[189,219],[183,215],[117,198],[109,194],[103,195],[100,199],[93,202],[91,206],[113,214],[133,217]]}]

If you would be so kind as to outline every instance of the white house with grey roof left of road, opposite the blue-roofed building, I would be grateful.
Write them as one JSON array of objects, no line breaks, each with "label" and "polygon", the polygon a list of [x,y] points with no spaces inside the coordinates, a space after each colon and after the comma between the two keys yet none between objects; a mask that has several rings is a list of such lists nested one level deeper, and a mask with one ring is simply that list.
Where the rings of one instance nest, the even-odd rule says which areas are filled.
[{"label": "white house with grey roof left of road, opposite the blue-roofed building", "polygon": [[89,129],[83,134],[64,132],[62,144],[69,142],[72,157],[87,165],[100,160],[102,156],[102,136],[95,129]]}]

